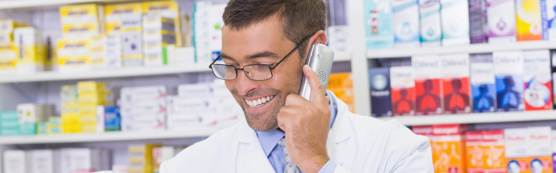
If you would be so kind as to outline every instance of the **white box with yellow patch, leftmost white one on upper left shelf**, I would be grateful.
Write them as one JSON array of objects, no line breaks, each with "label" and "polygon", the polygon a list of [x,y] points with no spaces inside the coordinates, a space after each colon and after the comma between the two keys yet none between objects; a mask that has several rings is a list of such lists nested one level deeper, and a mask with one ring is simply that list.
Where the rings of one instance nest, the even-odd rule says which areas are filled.
[{"label": "white box with yellow patch, leftmost white one on upper left shelf", "polygon": [[46,61],[41,32],[37,28],[23,27],[13,31],[18,50],[16,68],[18,74],[31,74],[44,70]]}]

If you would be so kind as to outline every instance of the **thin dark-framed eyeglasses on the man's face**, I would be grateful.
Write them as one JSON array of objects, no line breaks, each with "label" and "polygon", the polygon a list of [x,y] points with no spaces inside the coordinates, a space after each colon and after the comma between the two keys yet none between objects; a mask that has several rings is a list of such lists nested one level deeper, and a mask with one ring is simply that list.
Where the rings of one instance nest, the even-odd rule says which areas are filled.
[{"label": "thin dark-framed eyeglasses on the man's face", "polygon": [[[301,41],[301,43],[305,42],[308,38],[306,37]],[[216,60],[220,58],[220,55],[209,65],[209,68],[212,69],[212,73],[216,76],[216,78],[224,79],[224,80],[234,80],[237,78],[237,73],[239,70],[243,70],[247,78],[251,80],[269,80],[272,78],[272,69],[275,69],[286,59],[291,53],[293,53],[297,48],[300,47],[301,43],[297,44],[294,49],[287,53],[284,58],[280,60],[280,62],[276,63],[274,67],[270,67],[267,64],[251,64],[245,65],[243,68],[235,68],[234,65],[226,65],[226,64],[215,64]]]}]

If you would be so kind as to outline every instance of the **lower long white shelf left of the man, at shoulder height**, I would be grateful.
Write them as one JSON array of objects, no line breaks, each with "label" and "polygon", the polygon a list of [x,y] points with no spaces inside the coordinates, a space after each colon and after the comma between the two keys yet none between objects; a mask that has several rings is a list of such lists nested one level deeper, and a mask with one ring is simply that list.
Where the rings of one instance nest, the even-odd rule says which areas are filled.
[{"label": "lower long white shelf left of the man, at shoulder height", "polygon": [[115,131],[59,135],[0,136],[0,145],[92,143],[105,141],[160,140],[208,137],[224,127],[197,128],[183,131]]}]

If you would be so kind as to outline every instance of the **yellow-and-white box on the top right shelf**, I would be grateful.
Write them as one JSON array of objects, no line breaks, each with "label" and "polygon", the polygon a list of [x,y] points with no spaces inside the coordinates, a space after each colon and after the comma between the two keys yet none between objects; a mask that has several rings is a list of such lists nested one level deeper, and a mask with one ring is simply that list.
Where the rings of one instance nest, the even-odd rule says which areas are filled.
[{"label": "yellow-and-white box on the top right shelf", "polygon": [[543,22],[540,6],[540,0],[515,1],[518,41],[543,39]]}]

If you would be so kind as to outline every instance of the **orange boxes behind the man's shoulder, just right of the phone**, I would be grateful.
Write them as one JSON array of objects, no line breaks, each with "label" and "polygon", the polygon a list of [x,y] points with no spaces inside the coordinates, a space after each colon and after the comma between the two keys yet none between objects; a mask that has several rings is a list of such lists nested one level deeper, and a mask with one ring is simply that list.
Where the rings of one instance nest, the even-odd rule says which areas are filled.
[{"label": "orange boxes behind the man's shoulder, just right of the phone", "polygon": [[330,74],[326,90],[332,91],[337,98],[344,101],[352,113],[355,111],[353,99],[353,81],[351,73],[333,73]]}]

